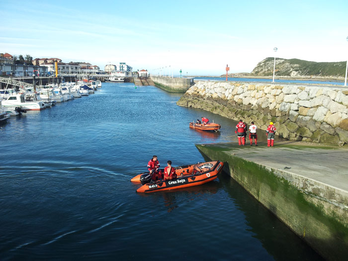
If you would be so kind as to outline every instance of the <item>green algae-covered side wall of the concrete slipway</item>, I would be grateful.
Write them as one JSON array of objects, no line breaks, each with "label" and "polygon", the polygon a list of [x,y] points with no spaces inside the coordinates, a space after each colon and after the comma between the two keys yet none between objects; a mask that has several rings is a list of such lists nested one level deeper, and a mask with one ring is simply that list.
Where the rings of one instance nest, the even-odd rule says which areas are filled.
[{"label": "green algae-covered side wall of the concrete slipway", "polygon": [[239,158],[231,154],[230,148],[196,147],[209,159],[223,161],[224,171],[323,257],[347,258],[348,227],[337,211],[329,214],[325,211],[330,203],[301,191],[288,180],[286,173]]}]

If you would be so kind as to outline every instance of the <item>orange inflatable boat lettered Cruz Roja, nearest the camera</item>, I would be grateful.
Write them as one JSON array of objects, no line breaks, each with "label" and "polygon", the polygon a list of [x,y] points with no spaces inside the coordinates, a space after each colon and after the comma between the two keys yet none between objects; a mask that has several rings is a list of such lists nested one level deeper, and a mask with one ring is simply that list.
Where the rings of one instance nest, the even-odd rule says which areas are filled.
[{"label": "orange inflatable boat lettered Cruz Roja, nearest the camera", "polygon": [[182,169],[176,169],[175,172],[177,175],[177,178],[172,180],[156,180],[146,183],[145,180],[151,180],[148,179],[147,176],[151,174],[145,173],[135,176],[131,179],[131,181],[140,180],[142,182],[142,186],[137,189],[137,192],[156,192],[156,191],[162,191],[162,190],[171,190],[171,189],[177,189],[177,188],[183,188],[183,187],[189,187],[189,186],[197,186],[200,184],[204,184],[206,182],[209,182],[211,180],[214,180],[217,178],[217,175],[222,171],[222,167],[224,164],[220,161],[212,161],[212,162],[204,162],[204,163],[197,163],[194,165],[187,165],[187,166],[181,166],[176,168],[182,168]]}]

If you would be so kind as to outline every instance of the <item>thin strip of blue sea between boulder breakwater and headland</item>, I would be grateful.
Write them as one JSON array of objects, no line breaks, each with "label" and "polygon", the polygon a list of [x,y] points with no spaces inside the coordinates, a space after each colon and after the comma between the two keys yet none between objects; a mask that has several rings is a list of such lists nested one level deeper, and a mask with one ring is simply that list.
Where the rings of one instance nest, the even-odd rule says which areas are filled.
[{"label": "thin strip of blue sea between boulder breakwater and headland", "polygon": [[[226,81],[225,77],[195,77],[195,80],[200,81]],[[270,79],[254,79],[254,78],[228,78],[229,82],[257,82],[257,83],[272,83]],[[341,85],[344,86],[344,82],[330,82],[330,81],[301,81],[301,80],[287,80],[287,79],[275,79],[274,83],[287,83],[287,84],[320,84],[320,85]]]}]

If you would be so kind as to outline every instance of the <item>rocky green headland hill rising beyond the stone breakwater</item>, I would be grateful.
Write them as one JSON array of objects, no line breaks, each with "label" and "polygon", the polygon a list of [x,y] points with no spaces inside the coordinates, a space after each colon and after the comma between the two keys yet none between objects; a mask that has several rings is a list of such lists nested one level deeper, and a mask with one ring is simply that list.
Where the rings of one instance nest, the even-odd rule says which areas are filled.
[{"label": "rocky green headland hill rising beyond the stone breakwater", "polygon": [[[272,76],[274,58],[267,57],[254,68],[251,76]],[[277,77],[345,77],[347,62],[310,62],[300,59],[275,58]]]}]

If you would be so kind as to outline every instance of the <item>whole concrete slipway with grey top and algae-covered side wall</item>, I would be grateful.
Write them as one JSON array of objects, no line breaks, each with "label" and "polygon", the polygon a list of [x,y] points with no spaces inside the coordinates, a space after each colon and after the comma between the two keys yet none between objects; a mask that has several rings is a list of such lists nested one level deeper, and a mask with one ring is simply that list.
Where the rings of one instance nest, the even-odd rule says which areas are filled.
[{"label": "whole concrete slipway with grey top and algae-covered side wall", "polygon": [[196,145],[328,260],[348,256],[348,149],[294,141]]}]

